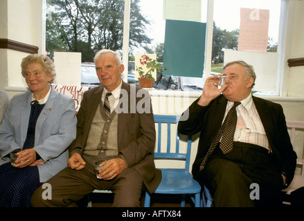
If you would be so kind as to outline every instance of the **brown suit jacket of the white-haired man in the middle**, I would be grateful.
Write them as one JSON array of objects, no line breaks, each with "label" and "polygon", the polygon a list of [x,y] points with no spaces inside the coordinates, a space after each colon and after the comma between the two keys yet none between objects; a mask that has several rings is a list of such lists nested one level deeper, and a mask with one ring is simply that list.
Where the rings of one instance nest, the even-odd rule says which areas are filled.
[{"label": "brown suit jacket of the white-haired man in the middle", "polygon": [[[121,110],[125,112],[118,113],[118,152],[123,154],[129,167],[132,166],[141,174],[148,191],[153,193],[161,181],[161,171],[155,168],[154,155],[151,153],[154,150],[156,135],[150,95],[144,89],[138,93],[140,88],[125,82],[121,89],[120,105],[123,105]],[[83,153],[91,122],[101,101],[102,91],[103,87],[98,86],[84,93],[77,114],[77,137],[69,147],[70,153],[75,148],[81,148]],[[137,97],[136,94],[141,96]],[[150,113],[138,113],[139,108],[136,106],[142,104],[150,104],[147,110]]]}]

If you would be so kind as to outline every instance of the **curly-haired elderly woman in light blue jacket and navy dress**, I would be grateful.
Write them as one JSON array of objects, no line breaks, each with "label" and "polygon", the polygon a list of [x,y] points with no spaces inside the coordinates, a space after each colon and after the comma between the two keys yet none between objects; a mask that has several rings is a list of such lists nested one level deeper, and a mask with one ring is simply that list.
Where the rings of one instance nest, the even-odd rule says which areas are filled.
[{"label": "curly-haired elderly woman in light blue jacket and navy dress", "polygon": [[[0,126],[0,206],[30,206],[35,189],[66,167],[76,137],[74,101],[51,86],[53,61],[28,55],[21,73],[30,90],[12,97]],[[17,148],[12,166],[9,153]]]}]

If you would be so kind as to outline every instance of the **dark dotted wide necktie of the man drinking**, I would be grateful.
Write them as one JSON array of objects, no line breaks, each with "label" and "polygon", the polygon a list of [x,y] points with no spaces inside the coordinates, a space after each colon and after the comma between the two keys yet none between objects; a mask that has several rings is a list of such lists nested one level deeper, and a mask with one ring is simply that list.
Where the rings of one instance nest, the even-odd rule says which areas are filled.
[{"label": "dark dotted wide necktie of the man drinking", "polygon": [[215,147],[220,142],[220,138],[222,140],[220,142],[220,149],[224,154],[229,153],[233,149],[233,137],[235,133],[236,122],[238,120],[235,108],[240,105],[240,102],[234,102],[232,108],[229,110],[226,118],[224,119],[224,123],[220,127],[220,130],[217,131],[217,135],[215,136],[211,146],[209,147],[204,160],[199,166],[199,171],[202,171],[206,165],[208,157],[213,153]]}]

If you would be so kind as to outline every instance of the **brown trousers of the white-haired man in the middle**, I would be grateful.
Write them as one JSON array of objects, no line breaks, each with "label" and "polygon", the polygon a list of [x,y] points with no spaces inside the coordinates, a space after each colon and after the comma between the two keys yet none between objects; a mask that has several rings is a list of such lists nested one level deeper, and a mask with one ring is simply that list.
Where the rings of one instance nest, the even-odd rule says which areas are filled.
[{"label": "brown trousers of the white-haired man in the middle", "polygon": [[116,207],[136,207],[140,206],[141,189],[143,180],[141,175],[132,167],[125,169],[114,180],[98,180],[93,166],[86,164],[80,171],[66,168],[46,183],[51,184],[52,199],[42,197],[42,186],[35,191],[32,197],[34,207],[62,207],[78,206],[77,202],[94,189],[111,190],[114,193],[114,203]]}]

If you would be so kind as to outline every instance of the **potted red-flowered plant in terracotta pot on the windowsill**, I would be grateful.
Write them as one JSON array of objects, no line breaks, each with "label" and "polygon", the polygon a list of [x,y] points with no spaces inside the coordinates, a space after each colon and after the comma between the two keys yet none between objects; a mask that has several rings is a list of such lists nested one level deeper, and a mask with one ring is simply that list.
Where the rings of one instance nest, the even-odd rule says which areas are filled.
[{"label": "potted red-flowered plant in terracotta pot on the windowsill", "polygon": [[161,64],[157,63],[156,59],[151,59],[147,55],[142,55],[139,59],[139,62],[141,65],[145,66],[147,69],[147,72],[143,70],[143,67],[137,67],[136,71],[138,72],[138,83],[141,88],[152,88],[153,81],[155,80],[152,76],[152,73],[154,70],[157,70],[158,72],[161,72],[163,68],[161,67]]}]

